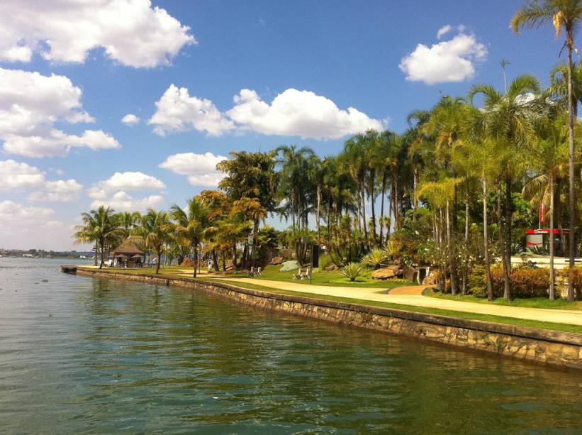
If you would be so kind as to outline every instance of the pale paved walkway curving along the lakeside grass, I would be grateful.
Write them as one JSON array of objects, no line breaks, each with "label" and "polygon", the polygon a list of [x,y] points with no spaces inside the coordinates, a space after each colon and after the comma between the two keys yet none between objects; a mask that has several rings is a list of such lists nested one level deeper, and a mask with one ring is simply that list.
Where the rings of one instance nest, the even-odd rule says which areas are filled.
[{"label": "pale paved walkway curving along the lakeside grass", "polygon": [[[225,279],[222,277],[222,279]],[[281,290],[293,292],[306,292],[326,294],[328,296],[350,297],[376,302],[389,302],[391,304],[414,305],[415,307],[449,309],[459,312],[471,312],[488,314],[492,316],[513,317],[515,319],[530,319],[537,321],[550,321],[554,323],[572,324],[582,326],[582,311],[569,311],[564,309],[540,309],[524,307],[506,307],[504,305],[479,304],[477,302],[461,302],[435,297],[424,297],[418,294],[418,288],[413,286],[417,294],[405,294],[405,287],[401,291],[392,290],[386,294],[384,290],[373,287],[330,287],[326,285],[299,284],[297,282],[283,282],[273,280],[257,280],[254,278],[226,278],[233,282],[248,282],[254,285],[275,287]],[[422,287],[424,288],[424,287]]]}]

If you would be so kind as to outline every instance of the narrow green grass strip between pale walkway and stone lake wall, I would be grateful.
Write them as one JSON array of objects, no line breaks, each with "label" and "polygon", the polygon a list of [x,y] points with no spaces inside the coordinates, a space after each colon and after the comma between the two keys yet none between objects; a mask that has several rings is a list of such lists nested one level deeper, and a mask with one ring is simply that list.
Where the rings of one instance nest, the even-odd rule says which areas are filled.
[{"label": "narrow green grass strip between pale walkway and stone lake wall", "polygon": [[278,293],[278,294],[288,294],[290,296],[311,297],[313,299],[325,299],[325,300],[337,301],[337,302],[347,302],[349,304],[361,304],[361,305],[369,305],[371,307],[401,309],[403,311],[418,312],[418,313],[425,313],[425,314],[435,314],[435,315],[440,315],[440,316],[457,317],[459,319],[481,320],[481,321],[489,321],[489,322],[498,323],[498,324],[508,324],[508,325],[514,325],[514,326],[528,326],[531,328],[549,329],[551,331],[562,331],[562,332],[571,332],[571,333],[575,333],[575,334],[582,334],[582,326],[552,323],[549,321],[514,319],[513,317],[490,316],[487,314],[458,312],[458,311],[453,311],[453,310],[449,310],[449,309],[416,307],[415,305],[393,304],[390,302],[376,302],[376,301],[369,301],[366,299],[357,299],[357,298],[351,298],[351,297],[329,296],[327,294],[293,292],[290,290],[279,290],[279,289],[276,289],[273,287],[267,287],[264,285],[254,285],[254,284],[251,284],[250,282],[240,282],[240,281],[229,282],[228,280],[218,280],[218,279],[213,279],[213,278],[203,278],[203,280],[215,281],[215,282],[218,281],[218,282],[223,282],[225,284],[234,285],[235,287],[243,287],[243,288],[250,289],[250,290],[263,290],[265,292],[273,292],[273,293]]}]

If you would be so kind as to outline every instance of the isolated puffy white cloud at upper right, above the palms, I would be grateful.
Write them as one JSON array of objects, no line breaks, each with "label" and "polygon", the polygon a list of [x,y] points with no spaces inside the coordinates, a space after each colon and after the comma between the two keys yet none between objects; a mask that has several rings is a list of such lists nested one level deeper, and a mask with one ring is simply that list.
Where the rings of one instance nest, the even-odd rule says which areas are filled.
[{"label": "isolated puffy white cloud at upper right, above the palms", "polygon": [[413,53],[403,57],[399,67],[412,82],[462,82],[474,77],[476,62],[486,57],[487,48],[474,35],[459,33],[430,48],[418,44]]}]

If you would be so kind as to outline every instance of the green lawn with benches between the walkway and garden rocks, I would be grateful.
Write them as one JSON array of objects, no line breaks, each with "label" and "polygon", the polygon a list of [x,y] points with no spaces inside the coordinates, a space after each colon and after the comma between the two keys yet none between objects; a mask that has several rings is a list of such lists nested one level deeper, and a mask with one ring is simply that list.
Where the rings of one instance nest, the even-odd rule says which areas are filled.
[{"label": "green lawn with benches between the walkway and garden rocks", "polygon": [[[284,282],[298,282],[301,284],[308,284],[309,281],[293,280],[293,272],[281,272],[280,265],[269,265],[261,272],[261,276],[257,277],[259,280],[274,280]],[[340,270],[319,270],[314,269],[311,275],[311,283],[315,285],[329,285],[342,287],[377,287],[381,289],[391,289],[394,287],[401,287],[403,285],[416,285],[415,282],[406,280],[372,280],[371,270],[364,270],[364,273],[355,281],[350,282],[346,277],[342,276]]]}]

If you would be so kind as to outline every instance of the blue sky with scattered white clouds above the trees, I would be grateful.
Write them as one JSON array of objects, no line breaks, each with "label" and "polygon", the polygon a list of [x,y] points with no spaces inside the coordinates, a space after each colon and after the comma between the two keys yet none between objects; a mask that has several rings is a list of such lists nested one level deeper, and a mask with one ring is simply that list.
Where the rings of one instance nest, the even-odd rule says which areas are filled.
[{"label": "blue sky with scattered white clouds above the trees", "polygon": [[[401,132],[406,115],[430,108],[440,92],[462,96],[476,82],[503,87],[502,58],[511,62],[508,79],[528,72],[547,84],[561,48],[550,27],[522,36],[510,31],[510,18],[521,1],[137,4],[110,11],[108,0],[96,0],[97,12],[77,8],[74,0],[54,7],[40,0],[12,0],[4,7],[0,217],[5,225],[0,248],[71,248],[70,228],[80,212],[96,204],[116,204],[118,192],[125,192],[117,197],[125,205],[183,204],[211,188],[200,185],[200,176],[208,172],[203,165],[230,150],[296,143],[326,155],[337,153],[358,128],[384,125]],[[446,25],[451,30],[437,39]],[[153,42],[148,39],[157,33]],[[444,57],[452,55],[447,44],[455,41],[464,44],[459,65],[454,53]],[[442,50],[432,50],[439,43]],[[419,44],[426,46],[425,52],[417,50]],[[412,63],[403,62],[411,53],[418,56]],[[413,65],[408,76],[417,79],[407,79],[399,67],[403,63]],[[467,67],[472,74],[464,72]],[[37,84],[33,72],[66,77],[70,83],[47,79],[46,86]],[[179,91],[174,89],[157,123],[147,123],[160,112],[155,104],[171,84],[185,88],[185,100],[177,101]],[[35,86],[56,90],[43,87],[38,94],[46,92],[47,97],[35,99],[30,97],[37,95]],[[24,88],[26,92],[13,92]],[[80,94],[71,97],[74,88]],[[241,89],[254,93],[235,103]],[[286,125],[287,116],[271,106],[280,94],[281,102],[298,104],[290,109],[296,117],[293,125]],[[192,115],[199,104],[212,113]],[[251,104],[267,106],[269,114],[250,113]],[[337,107],[330,109],[329,104]],[[235,106],[237,112],[229,112]],[[15,107],[29,110],[33,120],[22,121]],[[348,114],[349,107],[357,114]],[[72,121],[72,114],[94,121]],[[140,122],[122,123],[127,114]],[[87,130],[101,131],[93,145],[79,139]],[[55,131],[67,138],[55,138]],[[342,132],[347,133],[335,137]],[[186,153],[213,156],[186,158]],[[172,155],[181,157],[160,167]],[[202,167],[196,167],[198,162]],[[110,180],[116,172],[120,176]],[[189,183],[190,175],[195,180]]]}]

